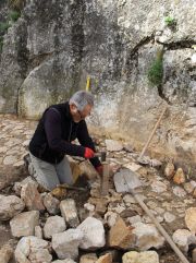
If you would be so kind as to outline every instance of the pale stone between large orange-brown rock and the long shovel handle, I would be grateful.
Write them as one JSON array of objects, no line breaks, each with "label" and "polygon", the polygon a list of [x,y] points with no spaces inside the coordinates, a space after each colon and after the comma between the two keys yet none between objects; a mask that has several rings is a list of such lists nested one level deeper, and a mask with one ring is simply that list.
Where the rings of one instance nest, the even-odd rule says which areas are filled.
[{"label": "pale stone between large orange-brown rock and the long shovel handle", "polygon": [[133,224],[133,234],[136,236],[136,246],[140,250],[148,250],[150,248],[159,249],[163,246],[164,238],[154,225],[138,222]]}]

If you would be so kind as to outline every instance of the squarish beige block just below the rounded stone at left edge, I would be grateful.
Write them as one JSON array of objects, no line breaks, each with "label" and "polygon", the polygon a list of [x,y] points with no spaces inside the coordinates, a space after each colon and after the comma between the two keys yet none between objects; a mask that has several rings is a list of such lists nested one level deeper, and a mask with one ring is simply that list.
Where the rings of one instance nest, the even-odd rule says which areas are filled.
[{"label": "squarish beige block just below the rounded stone at left edge", "polygon": [[34,236],[35,226],[38,226],[38,225],[39,225],[38,211],[21,213],[10,222],[13,237]]}]

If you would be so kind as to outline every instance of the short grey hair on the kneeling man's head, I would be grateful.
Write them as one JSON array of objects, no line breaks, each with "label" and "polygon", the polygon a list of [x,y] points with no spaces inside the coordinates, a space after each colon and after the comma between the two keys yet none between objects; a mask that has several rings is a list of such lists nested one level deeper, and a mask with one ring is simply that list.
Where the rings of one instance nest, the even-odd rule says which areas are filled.
[{"label": "short grey hair on the kneeling man's head", "polygon": [[83,110],[86,105],[94,106],[94,96],[89,92],[78,91],[70,98],[69,104],[74,104],[78,110]]}]

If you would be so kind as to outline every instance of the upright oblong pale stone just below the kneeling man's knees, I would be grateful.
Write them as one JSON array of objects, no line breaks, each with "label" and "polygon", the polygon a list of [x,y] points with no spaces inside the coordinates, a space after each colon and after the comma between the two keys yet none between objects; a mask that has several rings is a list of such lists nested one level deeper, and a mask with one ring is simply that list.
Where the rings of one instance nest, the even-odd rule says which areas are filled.
[{"label": "upright oblong pale stone just below the kneeling man's knees", "polygon": [[77,217],[77,210],[76,210],[74,200],[66,199],[61,201],[60,210],[61,210],[62,216],[65,219],[65,223],[68,223],[70,227],[75,228],[76,226],[78,226],[79,220]]}]

